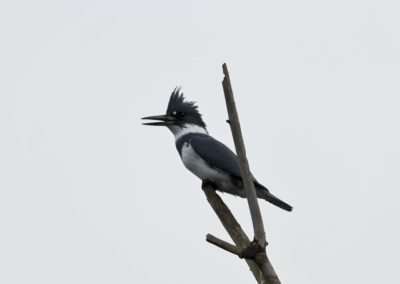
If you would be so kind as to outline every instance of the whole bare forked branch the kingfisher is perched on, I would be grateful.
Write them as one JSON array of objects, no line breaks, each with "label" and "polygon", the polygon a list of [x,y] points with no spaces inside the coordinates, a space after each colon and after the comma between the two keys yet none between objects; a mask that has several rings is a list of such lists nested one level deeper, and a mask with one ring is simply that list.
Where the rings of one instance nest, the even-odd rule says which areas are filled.
[{"label": "whole bare forked branch the kingfisher is perched on", "polygon": [[233,97],[228,68],[226,64],[223,64],[222,68],[225,75],[224,80],[222,81],[222,86],[224,89],[225,101],[228,110],[229,125],[231,127],[233,140],[235,142],[236,153],[240,163],[240,172],[250,208],[254,230],[254,241],[250,242],[249,238],[242,230],[239,223],[230,212],[229,208],[215,193],[215,189],[213,189],[211,185],[203,184],[203,190],[210,205],[218,215],[221,223],[224,225],[226,231],[231,236],[236,246],[220,240],[210,234],[207,235],[207,241],[226,251],[238,255],[241,258],[245,258],[258,283],[280,284],[281,282],[276,275],[265,250],[267,241],[265,237],[264,224],[262,221],[260,207],[258,205],[256,190],[254,188],[249,163],[246,157],[246,149],[240,128],[239,116],[237,114],[235,100]]}]

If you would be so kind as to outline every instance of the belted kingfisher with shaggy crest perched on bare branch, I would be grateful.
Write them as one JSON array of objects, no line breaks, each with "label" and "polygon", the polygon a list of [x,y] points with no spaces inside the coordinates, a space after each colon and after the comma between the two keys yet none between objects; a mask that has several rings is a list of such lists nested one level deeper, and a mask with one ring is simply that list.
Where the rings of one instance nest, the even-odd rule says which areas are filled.
[{"label": "belted kingfisher with shaggy crest perched on bare branch", "polygon": [[[172,92],[165,115],[142,119],[158,120],[143,123],[144,125],[166,126],[171,130],[183,164],[203,183],[212,184],[215,189],[222,192],[246,197],[237,156],[208,134],[197,105],[187,101],[180,88],[175,88]],[[254,177],[253,180],[258,198],[265,199],[286,211],[292,211],[292,206],[272,195]]]}]

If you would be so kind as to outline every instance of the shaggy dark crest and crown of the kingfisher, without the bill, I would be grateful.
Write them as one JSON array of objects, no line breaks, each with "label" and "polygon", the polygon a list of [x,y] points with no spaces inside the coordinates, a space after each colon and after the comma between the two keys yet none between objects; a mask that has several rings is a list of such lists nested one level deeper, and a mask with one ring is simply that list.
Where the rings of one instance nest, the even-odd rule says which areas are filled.
[{"label": "shaggy dark crest and crown of the kingfisher, without the bill", "polygon": [[176,121],[180,126],[194,124],[206,128],[195,102],[187,101],[178,87],[172,91],[166,114],[176,117]]}]

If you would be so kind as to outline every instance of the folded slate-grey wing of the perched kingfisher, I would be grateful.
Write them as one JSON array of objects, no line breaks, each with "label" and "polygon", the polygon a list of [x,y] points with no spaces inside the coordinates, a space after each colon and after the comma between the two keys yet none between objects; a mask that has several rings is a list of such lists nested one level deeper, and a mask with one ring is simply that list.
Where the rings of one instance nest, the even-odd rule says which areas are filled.
[{"label": "folded slate-grey wing of the perched kingfisher", "polygon": [[208,135],[196,135],[191,138],[190,144],[211,167],[241,179],[239,160],[235,153],[224,144]]}]

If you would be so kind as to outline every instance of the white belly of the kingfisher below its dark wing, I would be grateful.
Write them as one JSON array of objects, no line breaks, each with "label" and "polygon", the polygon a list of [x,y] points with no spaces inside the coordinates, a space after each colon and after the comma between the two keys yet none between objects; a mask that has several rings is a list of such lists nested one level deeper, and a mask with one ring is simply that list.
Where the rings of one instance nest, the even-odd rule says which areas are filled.
[{"label": "white belly of the kingfisher below its dark wing", "polygon": [[185,143],[182,147],[182,162],[185,167],[202,180],[229,182],[228,176],[220,171],[211,168],[197,153],[190,144]]}]

